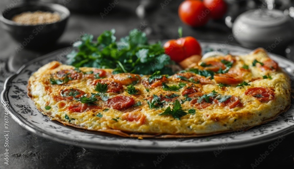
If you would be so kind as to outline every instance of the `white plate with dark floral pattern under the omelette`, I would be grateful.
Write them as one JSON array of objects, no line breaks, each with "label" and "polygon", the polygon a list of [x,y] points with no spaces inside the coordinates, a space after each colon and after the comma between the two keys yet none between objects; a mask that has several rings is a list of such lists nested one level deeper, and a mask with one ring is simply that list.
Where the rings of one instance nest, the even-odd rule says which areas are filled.
[{"label": "white plate with dark floral pattern under the omelette", "polygon": [[[231,54],[251,52],[250,49],[215,42],[201,41],[201,46],[206,51],[213,49],[229,51]],[[105,150],[160,153],[170,148],[172,152],[198,152],[216,150],[218,147],[223,148],[223,146],[229,149],[259,144],[275,140],[281,135],[289,134],[294,129],[294,105],[275,120],[253,127],[248,131],[240,130],[205,137],[140,140],[64,126],[59,122],[51,121],[49,117],[40,113],[34,102],[27,96],[26,89],[31,73],[53,60],[64,62],[65,56],[62,53],[64,51],[66,51],[66,48],[46,54],[25,64],[16,74],[6,79],[4,90],[1,93],[2,105],[5,101],[9,102],[10,116],[22,127],[42,137],[61,143]],[[285,69],[293,79],[293,62],[275,54],[270,54],[270,57],[277,61],[280,67]]]}]

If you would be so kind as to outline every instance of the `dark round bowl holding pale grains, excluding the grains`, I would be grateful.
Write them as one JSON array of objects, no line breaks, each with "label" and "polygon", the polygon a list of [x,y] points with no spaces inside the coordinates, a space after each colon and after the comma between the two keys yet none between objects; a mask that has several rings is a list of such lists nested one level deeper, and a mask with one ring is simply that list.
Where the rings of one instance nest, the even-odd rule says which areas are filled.
[{"label": "dark round bowl holding pale grains, excluding the grains", "polygon": [[[40,25],[23,25],[12,21],[12,17],[16,14],[27,11],[50,11],[57,12],[60,20],[50,24]],[[66,23],[69,19],[70,11],[59,4],[49,3],[24,3],[11,8],[9,11],[4,10],[0,15],[2,27],[9,32],[17,42],[19,42],[20,50],[22,48],[45,47],[47,44],[53,44],[64,32]]]}]

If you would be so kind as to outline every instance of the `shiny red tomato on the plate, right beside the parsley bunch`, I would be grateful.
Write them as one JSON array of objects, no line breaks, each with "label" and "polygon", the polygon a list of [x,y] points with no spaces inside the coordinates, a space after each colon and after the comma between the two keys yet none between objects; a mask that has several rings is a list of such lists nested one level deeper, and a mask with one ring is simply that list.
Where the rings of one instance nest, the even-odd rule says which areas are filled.
[{"label": "shiny red tomato on the plate, right beside the parsley bunch", "polygon": [[169,40],[163,45],[163,48],[175,62],[181,62],[192,55],[201,55],[200,44],[193,37]]}]

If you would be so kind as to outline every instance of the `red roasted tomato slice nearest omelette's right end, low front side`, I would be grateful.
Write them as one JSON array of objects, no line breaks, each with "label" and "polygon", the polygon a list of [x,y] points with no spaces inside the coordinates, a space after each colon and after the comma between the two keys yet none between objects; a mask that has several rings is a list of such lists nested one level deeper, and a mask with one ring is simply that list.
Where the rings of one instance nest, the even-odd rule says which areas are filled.
[{"label": "red roasted tomato slice nearest omelette's right end, low front side", "polygon": [[253,96],[259,101],[270,101],[274,99],[275,92],[265,87],[252,87],[245,90],[245,95]]}]

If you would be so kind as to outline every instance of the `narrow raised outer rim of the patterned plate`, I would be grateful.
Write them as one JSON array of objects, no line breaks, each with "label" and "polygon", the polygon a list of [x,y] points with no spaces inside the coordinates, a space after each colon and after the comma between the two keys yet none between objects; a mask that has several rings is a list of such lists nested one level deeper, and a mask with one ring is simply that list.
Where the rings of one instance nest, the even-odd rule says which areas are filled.
[{"label": "narrow raised outer rim of the patterned plate", "polygon": [[[162,40],[163,41],[163,40]],[[220,43],[222,44],[221,41],[209,41],[209,40],[198,40],[200,43],[204,42],[204,43]],[[233,44],[230,43],[228,44],[228,46],[233,46],[233,47],[240,47],[242,49],[247,49],[247,50],[253,50],[253,49],[248,49],[245,47],[242,47],[238,44]],[[9,101],[9,97],[8,97],[8,91],[9,91],[9,82],[14,79],[15,76],[17,76],[24,68],[28,67],[30,64],[34,63],[34,62],[38,62],[39,60],[42,60],[44,58],[48,58],[56,53],[60,53],[61,50],[63,49],[67,49],[68,47],[64,47],[61,49],[57,49],[55,51],[49,52],[45,55],[42,55],[40,57],[37,57],[35,59],[32,59],[31,61],[25,63],[24,65],[22,65],[19,70],[16,73],[11,74],[9,77],[7,77],[7,79],[4,82],[4,88],[3,91],[1,92],[1,104],[2,106],[4,106],[5,104],[5,100]],[[71,47],[72,48],[72,47]],[[291,64],[294,64],[294,62],[288,60],[287,58],[284,58],[278,54],[273,54],[268,52],[269,55],[273,55],[275,57],[279,57],[281,59],[286,60],[287,62],[291,62]],[[7,93],[7,95],[5,95]],[[7,97],[6,97],[7,96]],[[61,137],[59,135],[55,135],[54,133],[51,132],[47,132],[46,130],[39,130],[39,127],[34,128],[31,125],[31,122],[29,122],[28,120],[26,120],[24,117],[22,117],[21,115],[19,115],[18,112],[16,112],[13,107],[9,107],[9,115],[12,117],[12,119],[17,122],[21,127],[24,127],[26,130],[29,130],[30,132],[33,132],[34,134],[47,138],[49,140],[54,140],[57,141],[59,143],[63,143],[63,144],[69,144],[69,145],[75,145],[73,143],[73,140],[71,138],[67,138],[67,137]],[[38,112],[40,113],[40,112]],[[252,140],[246,140],[246,141],[242,141],[242,140],[238,140],[238,142],[235,143],[230,143],[226,149],[232,149],[232,148],[244,148],[244,147],[248,147],[248,146],[252,146],[252,145],[257,145],[257,144],[262,144],[262,143],[266,143],[266,142],[270,142],[273,140],[276,140],[279,136],[285,136],[288,134],[291,134],[292,132],[294,132],[294,125],[289,126],[283,130],[280,130],[276,133],[273,134],[269,134],[269,135],[265,135],[265,136],[261,136]],[[115,136],[114,136],[115,137]],[[124,139],[129,139],[129,137],[126,137]],[[146,138],[148,139],[148,138]],[[152,138],[151,138],[152,139]],[[187,138],[189,139],[189,138]],[[139,139],[138,139],[139,140]],[[156,141],[160,141],[160,140],[166,140],[166,139],[156,139]],[[203,147],[181,147],[179,145],[177,145],[175,148],[172,149],[173,153],[183,153],[183,152],[203,152],[203,151],[212,151],[212,150],[217,150],[217,148],[219,148],[221,145],[223,145],[223,143],[219,143],[219,144],[215,144],[215,145],[207,145],[207,146],[203,146]],[[79,147],[87,147],[87,148],[95,148],[95,149],[102,149],[102,150],[116,150],[117,148],[119,148],[120,145],[118,145],[117,143],[93,143],[93,142],[88,142],[88,141],[81,141],[78,143],[78,145],[75,146],[79,146]],[[144,145],[142,146],[137,146],[137,145],[128,145],[125,147],[124,151],[132,151],[132,152],[140,152],[140,153],[161,153],[163,150],[166,150],[167,148],[170,148],[169,145],[167,146],[162,146],[162,147],[152,147],[152,145]]]}]

